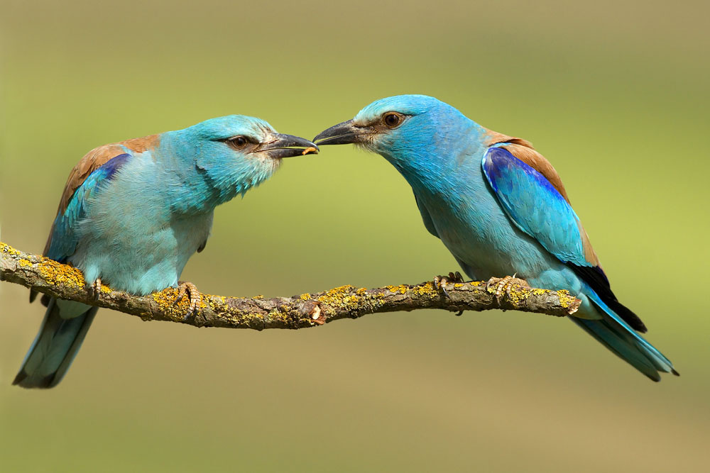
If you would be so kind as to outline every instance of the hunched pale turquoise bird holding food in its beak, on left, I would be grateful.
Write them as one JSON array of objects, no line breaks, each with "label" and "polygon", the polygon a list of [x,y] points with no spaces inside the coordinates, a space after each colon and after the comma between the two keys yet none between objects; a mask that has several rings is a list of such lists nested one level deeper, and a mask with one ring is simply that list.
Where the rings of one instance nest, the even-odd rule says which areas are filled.
[{"label": "hunched pale turquoise bird holding food in its beak, on left", "polygon": [[[136,295],[179,288],[187,318],[201,296],[178,279],[204,250],[214,208],[271,177],[283,158],[311,153],[309,140],[242,115],[99,146],[70,172],[43,254],[80,269],[94,296],[102,284]],[[13,381],[25,388],[62,380],[98,309],[42,299],[44,320]]]}]

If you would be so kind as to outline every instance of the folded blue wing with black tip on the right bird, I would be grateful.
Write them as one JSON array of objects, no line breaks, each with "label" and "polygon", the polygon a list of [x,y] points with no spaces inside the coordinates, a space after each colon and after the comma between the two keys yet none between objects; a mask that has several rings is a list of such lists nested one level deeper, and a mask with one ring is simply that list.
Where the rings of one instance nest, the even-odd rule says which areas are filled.
[{"label": "folded blue wing with black tip on the right bird", "polygon": [[[545,160],[542,155],[538,156]],[[545,162],[561,186],[557,172],[547,160]],[[623,306],[611,291],[589,237],[559,186],[500,145],[488,148],[482,165],[488,184],[515,226],[573,269],[635,330],[645,332],[640,318]]]}]

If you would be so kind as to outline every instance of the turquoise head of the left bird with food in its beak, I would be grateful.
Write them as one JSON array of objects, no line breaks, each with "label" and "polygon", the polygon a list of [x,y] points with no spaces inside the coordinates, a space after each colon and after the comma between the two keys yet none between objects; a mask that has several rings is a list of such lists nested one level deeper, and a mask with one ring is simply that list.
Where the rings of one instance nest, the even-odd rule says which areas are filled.
[{"label": "turquoise head of the left bird with food in its beak", "polygon": [[271,177],[284,157],[318,152],[305,138],[276,133],[266,121],[243,115],[212,118],[165,135],[161,144],[194,165],[217,204]]}]

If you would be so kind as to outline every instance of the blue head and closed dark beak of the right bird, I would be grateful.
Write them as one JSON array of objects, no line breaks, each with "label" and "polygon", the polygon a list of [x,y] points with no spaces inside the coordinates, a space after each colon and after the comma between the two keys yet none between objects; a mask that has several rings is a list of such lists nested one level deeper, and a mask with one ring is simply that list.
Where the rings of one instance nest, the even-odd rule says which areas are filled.
[{"label": "blue head and closed dark beak of the right bird", "polygon": [[412,183],[455,165],[453,150],[478,145],[483,130],[434,97],[398,95],[374,101],[313,140],[319,145],[354,143],[376,152]]}]

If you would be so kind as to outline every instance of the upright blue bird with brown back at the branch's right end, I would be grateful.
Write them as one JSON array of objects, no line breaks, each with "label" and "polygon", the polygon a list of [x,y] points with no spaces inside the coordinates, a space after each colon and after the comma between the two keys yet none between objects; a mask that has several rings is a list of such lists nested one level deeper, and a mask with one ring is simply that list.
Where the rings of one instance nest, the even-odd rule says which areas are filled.
[{"label": "upright blue bird with brown back at the branch's right end", "polygon": [[528,140],[488,130],[434,97],[400,95],[313,141],[352,143],[390,162],[412,187],[425,228],[471,279],[505,275],[496,294],[513,277],[567,289],[581,300],[569,319],[586,333],[653,381],[678,375],[616,298],[562,179]]}]

